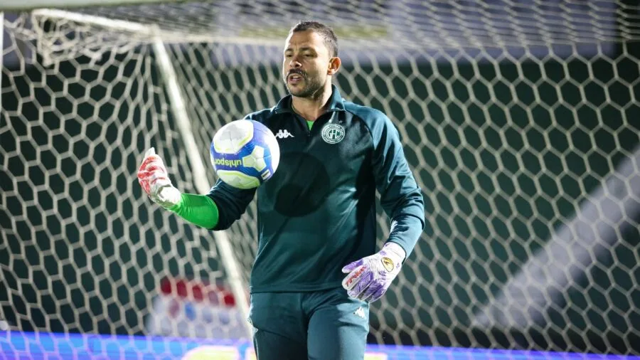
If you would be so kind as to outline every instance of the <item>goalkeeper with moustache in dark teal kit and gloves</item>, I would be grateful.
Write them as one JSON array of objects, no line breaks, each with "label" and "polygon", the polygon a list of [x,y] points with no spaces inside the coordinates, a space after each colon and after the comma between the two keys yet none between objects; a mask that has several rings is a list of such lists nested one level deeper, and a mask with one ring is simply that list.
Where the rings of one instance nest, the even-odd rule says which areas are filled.
[{"label": "goalkeeper with moustache in dark teal kit and gloves", "polygon": [[[290,95],[245,119],[278,134],[280,162],[257,188],[260,238],[250,321],[260,360],[363,359],[368,303],[378,300],[424,227],[424,204],[398,132],[378,110],[343,100],[331,28],[297,23],[284,47]],[[147,153],[139,181],[151,199],[215,230],[240,218],[256,192],[218,181],[206,196],[180,194]],[[375,252],[375,190],[391,231]],[[345,275],[346,274],[346,275]]]}]

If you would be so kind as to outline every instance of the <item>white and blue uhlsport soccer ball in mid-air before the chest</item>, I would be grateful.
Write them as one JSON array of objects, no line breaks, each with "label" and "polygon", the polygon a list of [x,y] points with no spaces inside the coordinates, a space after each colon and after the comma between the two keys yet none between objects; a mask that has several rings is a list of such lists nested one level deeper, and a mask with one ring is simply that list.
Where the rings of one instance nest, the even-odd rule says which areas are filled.
[{"label": "white and blue uhlsport soccer ball in mid-air before the chest", "polygon": [[280,161],[280,148],[265,125],[235,120],[215,133],[210,157],[220,180],[238,189],[253,189],[273,176]]}]

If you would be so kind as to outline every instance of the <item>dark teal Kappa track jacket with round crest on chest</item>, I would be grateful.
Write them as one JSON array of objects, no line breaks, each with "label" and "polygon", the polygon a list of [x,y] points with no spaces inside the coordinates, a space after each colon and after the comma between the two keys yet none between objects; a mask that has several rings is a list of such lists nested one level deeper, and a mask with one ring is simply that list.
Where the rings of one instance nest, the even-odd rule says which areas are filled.
[{"label": "dark teal Kappa track jacket with round crest on chest", "polygon": [[341,268],[377,251],[375,191],[392,220],[389,241],[411,253],[425,226],[422,193],[398,131],[382,112],[343,100],[309,129],[291,96],[245,119],[269,127],[280,147],[271,179],[252,190],[218,181],[213,230],[238,220],[257,192],[258,250],[251,292],[301,292],[341,286]]}]

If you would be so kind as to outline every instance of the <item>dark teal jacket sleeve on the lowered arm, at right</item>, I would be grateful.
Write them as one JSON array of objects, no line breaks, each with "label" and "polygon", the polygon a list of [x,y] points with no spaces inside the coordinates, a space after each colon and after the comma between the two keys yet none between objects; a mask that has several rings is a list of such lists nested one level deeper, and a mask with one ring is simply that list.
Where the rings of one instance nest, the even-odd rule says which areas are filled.
[{"label": "dark teal jacket sleeve on the lowered arm, at right", "polygon": [[425,227],[422,191],[411,173],[400,135],[391,120],[378,112],[371,132],[375,185],[380,204],[391,218],[388,241],[402,246],[408,257]]}]

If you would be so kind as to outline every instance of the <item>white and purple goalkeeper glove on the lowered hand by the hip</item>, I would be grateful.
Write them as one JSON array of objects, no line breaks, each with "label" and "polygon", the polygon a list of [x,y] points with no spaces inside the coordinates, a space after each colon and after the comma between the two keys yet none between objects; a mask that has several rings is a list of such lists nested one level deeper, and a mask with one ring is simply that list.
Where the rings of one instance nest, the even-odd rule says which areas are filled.
[{"label": "white and purple goalkeeper glove on the lowered hand by the hip", "polygon": [[350,297],[374,302],[384,295],[393,279],[398,276],[405,256],[402,246],[385,243],[378,253],[342,268],[342,272],[348,272],[342,280],[342,287]]}]

